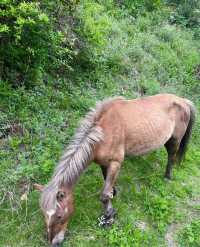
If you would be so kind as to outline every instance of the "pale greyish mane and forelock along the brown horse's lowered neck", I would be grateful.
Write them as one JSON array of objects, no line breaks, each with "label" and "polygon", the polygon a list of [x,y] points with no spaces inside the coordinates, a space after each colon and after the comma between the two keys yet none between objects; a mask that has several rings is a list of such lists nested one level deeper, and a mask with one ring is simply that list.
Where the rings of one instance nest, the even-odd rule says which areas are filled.
[{"label": "pale greyish mane and forelock along the brown horse's lowered neck", "polygon": [[96,125],[96,121],[110,103],[119,99],[123,98],[115,97],[97,103],[96,107],[91,109],[82,120],[80,127],[56,166],[51,181],[42,192],[42,209],[55,208],[58,188],[62,185],[73,185],[85,170],[92,159],[94,145],[103,140],[103,131],[100,126]]}]

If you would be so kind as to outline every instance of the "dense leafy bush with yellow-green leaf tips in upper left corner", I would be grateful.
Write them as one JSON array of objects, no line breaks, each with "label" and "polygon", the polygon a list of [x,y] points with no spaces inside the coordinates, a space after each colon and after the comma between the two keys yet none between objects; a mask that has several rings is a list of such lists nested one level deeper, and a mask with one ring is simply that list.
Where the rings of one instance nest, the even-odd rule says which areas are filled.
[{"label": "dense leafy bush with yellow-green leaf tips in upper left corner", "polygon": [[70,45],[39,2],[3,0],[0,7],[0,79],[28,85],[45,71],[70,68]]}]

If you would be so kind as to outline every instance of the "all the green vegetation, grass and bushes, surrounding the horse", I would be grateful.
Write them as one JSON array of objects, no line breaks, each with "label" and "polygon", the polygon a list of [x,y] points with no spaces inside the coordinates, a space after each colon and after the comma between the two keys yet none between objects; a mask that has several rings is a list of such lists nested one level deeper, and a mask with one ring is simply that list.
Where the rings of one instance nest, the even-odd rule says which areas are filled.
[{"label": "all the green vegetation, grass and bushes, surrounding the horse", "polygon": [[[47,183],[97,100],[170,92],[199,103],[199,1],[0,3],[0,246],[47,246],[34,182]],[[76,186],[63,246],[197,247],[199,116],[186,159],[163,178],[164,149],[124,162],[113,227],[101,229],[100,169]]]}]

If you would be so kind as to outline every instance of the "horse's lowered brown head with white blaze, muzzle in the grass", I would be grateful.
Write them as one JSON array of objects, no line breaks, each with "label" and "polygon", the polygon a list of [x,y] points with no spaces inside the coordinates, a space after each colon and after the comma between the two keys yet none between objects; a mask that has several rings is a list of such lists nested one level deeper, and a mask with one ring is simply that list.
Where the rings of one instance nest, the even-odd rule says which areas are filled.
[{"label": "horse's lowered brown head with white blaze, muzzle in the grass", "polygon": [[47,226],[48,240],[52,247],[59,246],[64,240],[69,218],[74,211],[72,189],[60,187],[56,195],[53,195],[54,192],[46,191],[41,185],[35,185],[35,188],[42,192],[41,208]]}]

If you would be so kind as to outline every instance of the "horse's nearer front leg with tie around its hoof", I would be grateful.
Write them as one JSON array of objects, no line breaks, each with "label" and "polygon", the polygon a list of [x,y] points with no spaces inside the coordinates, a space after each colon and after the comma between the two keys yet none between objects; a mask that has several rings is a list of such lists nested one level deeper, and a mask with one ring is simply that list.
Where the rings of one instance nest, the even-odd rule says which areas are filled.
[{"label": "horse's nearer front leg with tie around its hoof", "polygon": [[116,216],[116,211],[112,206],[111,200],[114,193],[114,183],[119,173],[120,166],[121,164],[119,162],[112,161],[107,167],[104,188],[100,198],[104,207],[104,214],[100,218],[99,223],[101,226],[111,225],[114,222],[114,218]]}]

